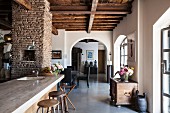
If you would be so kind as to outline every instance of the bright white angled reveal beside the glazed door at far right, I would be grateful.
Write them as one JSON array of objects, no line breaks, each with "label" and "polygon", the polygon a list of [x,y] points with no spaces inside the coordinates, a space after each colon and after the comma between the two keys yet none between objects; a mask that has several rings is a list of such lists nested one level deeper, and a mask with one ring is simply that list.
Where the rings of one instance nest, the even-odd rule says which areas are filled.
[{"label": "bright white angled reveal beside the glazed door at far right", "polygon": [[153,25],[153,113],[161,112],[161,29],[170,25],[170,8]]}]

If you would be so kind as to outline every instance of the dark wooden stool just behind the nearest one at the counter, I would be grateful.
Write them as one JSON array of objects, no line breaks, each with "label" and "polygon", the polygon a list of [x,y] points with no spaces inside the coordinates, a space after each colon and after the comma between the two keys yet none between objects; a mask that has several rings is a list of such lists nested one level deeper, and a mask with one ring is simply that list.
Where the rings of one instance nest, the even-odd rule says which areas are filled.
[{"label": "dark wooden stool just behind the nearest one at the counter", "polygon": [[[63,91],[52,91],[48,94],[48,96],[49,96],[49,99],[51,97],[53,99],[54,98],[60,98],[61,112],[64,113],[65,111],[68,111],[68,105],[67,105],[67,101],[66,101],[66,93],[65,92],[63,92]],[[64,111],[64,108],[63,108],[64,106],[65,106],[65,111]]]}]

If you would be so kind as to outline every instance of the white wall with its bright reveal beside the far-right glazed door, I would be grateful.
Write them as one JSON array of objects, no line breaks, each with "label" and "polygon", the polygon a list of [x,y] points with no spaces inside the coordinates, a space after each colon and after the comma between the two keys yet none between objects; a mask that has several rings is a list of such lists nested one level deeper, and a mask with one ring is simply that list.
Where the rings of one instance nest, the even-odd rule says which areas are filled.
[{"label": "white wall with its bright reveal beside the far-right glazed door", "polygon": [[165,18],[163,15],[169,8],[170,1],[145,0],[143,6],[143,90],[148,93],[149,111],[151,113],[161,113],[160,29],[161,27],[166,26],[166,24],[168,25],[166,20],[170,20],[170,14],[167,14],[167,17]]}]

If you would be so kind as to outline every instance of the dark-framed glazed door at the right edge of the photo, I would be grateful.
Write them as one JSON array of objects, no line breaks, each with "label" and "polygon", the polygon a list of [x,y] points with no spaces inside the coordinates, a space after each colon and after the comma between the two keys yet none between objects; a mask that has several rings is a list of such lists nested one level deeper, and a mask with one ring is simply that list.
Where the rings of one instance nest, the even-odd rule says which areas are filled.
[{"label": "dark-framed glazed door at the right edge of the photo", "polygon": [[161,108],[170,112],[170,27],[161,30]]}]

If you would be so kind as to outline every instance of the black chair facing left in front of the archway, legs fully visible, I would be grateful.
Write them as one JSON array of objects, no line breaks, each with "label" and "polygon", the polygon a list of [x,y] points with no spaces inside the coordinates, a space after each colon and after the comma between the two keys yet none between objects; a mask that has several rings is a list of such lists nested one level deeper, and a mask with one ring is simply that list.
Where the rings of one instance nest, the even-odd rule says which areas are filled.
[{"label": "black chair facing left in front of the archway, legs fully visible", "polygon": [[86,74],[77,76],[77,86],[79,87],[79,80],[86,80],[87,87],[89,88],[89,76],[90,76],[90,66],[85,68]]}]

